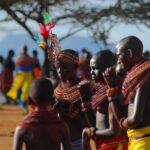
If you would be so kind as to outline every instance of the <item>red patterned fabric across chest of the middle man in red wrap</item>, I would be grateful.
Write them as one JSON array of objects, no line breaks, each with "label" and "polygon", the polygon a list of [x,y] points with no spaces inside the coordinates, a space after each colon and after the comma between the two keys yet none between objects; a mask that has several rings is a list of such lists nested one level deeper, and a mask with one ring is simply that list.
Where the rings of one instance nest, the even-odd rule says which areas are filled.
[{"label": "red patterned fabric across chest of the middle man in red wrap", "polygon": [[96,109],[96,107],[100,103],[102,103],[104,100],[107,99],[106,89],[107,86],[101,83],[97,83],[91,89],[91,93],[92,93],[91,105],[93,109]]}]

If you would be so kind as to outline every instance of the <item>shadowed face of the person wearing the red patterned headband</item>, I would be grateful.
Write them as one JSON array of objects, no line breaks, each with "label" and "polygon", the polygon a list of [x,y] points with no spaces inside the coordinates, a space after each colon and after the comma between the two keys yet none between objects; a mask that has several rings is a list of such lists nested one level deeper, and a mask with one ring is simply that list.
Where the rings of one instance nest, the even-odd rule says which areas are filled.
[{"label": "shadowed face of the person wearing the red patterned headband", "polygon": [[67,81],[76,75],[76,69],[73,64],[65,64],[59,60],[55,63],[58,77],[62,81]]}]

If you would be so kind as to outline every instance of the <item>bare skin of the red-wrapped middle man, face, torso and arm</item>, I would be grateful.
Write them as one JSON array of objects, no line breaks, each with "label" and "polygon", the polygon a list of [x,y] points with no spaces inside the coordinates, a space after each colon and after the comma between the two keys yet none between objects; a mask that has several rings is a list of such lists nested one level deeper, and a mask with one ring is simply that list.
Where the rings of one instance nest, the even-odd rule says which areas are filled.
[{"label": "bare skin of the red-wrapped middle man, face, torso and arm", "polygon": [[[102,59],[102,58],[101,58]],[[91,75],[92,79],[95,80],[96,83],[100,82],[106,84],[102,75],[102,72],[105,68],[102,62],[100,62],[100,58],[92,57],[90,61],[91,67]],[[108,103],[108,100],[105,100],[103,103],[99,105],[103,112],[96,112],[96,132],[94,131],[95,128],[91,128],[91,137],[97,137],[98,139],[107,139],[107,138],[114,138],[120,133],[120,129],[117,124],[117,120],[115,115],[113,114],[113,107]],[[83,130],[82,138],[83,138],[83,148],[85,150],[89,150],[89,146],[86,143],[86,140],[91,138],[89,136],[89,128]]]}]

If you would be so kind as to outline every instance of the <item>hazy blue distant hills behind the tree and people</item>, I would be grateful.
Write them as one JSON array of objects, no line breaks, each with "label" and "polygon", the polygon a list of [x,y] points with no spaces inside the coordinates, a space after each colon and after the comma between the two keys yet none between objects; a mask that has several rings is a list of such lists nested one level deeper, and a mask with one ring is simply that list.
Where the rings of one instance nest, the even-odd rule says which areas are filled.
[{"label": "hazy blue distant hills behind the tree and people", "polygon": [[[15,57],[20,53],[20,47],[22,44],[28,45],[29,48],[29,54],[32,55],[32,50],[37,49],[39,52],[39,59],[40,62],[43,62],[43,52],[38,47],[38,45],[30,38],[28,34],[25,33],[18,33],[18,34],[9,34],[4,39],[0,41],[0,55],[3,55],[4,57],[7,56],[7,52],[9,49],[15,50]],[[94,43],[94,41],[89,37],[82,37],[82,36],[72,36],[70,38],[67,38],[63,40],[60,43],[62,49],[74,49],[78,52],[81,51],[82,48],[87,48],[91,53],[95,53],[100,49],[106,48],[103,44],[101,47],[98,47],[97,44]],[[110,48],[111,50],[114,49],[114,44],[108,44],[107,48]]]}]

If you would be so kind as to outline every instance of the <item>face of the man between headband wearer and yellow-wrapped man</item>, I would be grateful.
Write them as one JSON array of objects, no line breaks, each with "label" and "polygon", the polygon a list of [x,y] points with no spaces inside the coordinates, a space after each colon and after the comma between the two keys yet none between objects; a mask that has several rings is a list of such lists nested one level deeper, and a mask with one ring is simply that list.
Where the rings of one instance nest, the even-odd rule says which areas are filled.
[{"label": "face of the man between headband wearer and yellow-wrapped man", "polygon": [[90,67],[91,67],[92,79],[95,80],[95,82],[100,82],[103,78],[102,69],[101,69],[101,66],[98,65],[98,61],[95,58],[91,59]]}]

